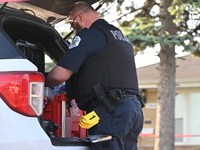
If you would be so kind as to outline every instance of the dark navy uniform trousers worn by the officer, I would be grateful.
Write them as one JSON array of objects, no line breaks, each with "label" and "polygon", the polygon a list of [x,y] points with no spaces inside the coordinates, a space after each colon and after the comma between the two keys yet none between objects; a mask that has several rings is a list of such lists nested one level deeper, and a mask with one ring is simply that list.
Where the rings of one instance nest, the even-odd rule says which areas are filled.
[{"label": "dark navy uniform trousers worn by the officer", "polygon": [[113,113],[104,105],[93,109],[100,117],[99,124],[89,129],[89,135],[110,134],[112,140],[92,143],[92,150],[137,150],[138,135],[143,128],[144,118],[137,98],[125,98]]}]

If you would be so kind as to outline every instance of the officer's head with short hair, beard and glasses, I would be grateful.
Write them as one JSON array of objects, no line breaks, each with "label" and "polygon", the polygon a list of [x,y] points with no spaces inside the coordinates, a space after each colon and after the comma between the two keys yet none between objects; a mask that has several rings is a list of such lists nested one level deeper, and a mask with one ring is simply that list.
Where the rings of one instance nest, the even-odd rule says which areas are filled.
[{"label": "officer's head with short hair, beard and glasses", "polygon": [[98,19],[100,19],[98,13],[91,5],[85,2],[75,3],[69,14],[71,28],[73,28],[76,34],[84,28],[89,28]]}]

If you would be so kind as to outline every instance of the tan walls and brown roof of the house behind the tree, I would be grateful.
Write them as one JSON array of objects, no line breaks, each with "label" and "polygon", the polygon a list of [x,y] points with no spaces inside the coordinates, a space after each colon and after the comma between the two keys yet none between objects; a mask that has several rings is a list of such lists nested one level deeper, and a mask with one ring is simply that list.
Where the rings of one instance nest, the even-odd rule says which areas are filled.
[{"label": "tan walls and brown roof of the house behind the tree", "polygon": [[[183,103],[185,103],[190,101],[191,94],[200,94],[200,59],[187,55],[182,58],[178,58],[176,63],[178,66],[176,75],[176,94],[182,95],[182,99],[184,99]],[[146,107],[143,108],[145,123],[141,136],[138,139],[139,150],[154,149],[155,137],[147,136],[148,134],[155,134],[157,83],[159,79],[157,68],[158,64],[154,64],[137,69],[139,88],[140,90],[145,89],[146,91]],[[188,107],[188,104],[184,104],[184,106]],[[187,109],[189,111],[189,108]],[[185,116],[188,116],[188,114],[186,114]],[[185,128],[188,128],[189,123],[184,122],[183,126],[183,134],[185,134],[187,132]],[[196,138],[200,139],[200,136]],[[192,144],[191,142],[194,139],[194,141],[196,141],[196,138],[183,137],[181,139],[183,140],[182,142],[175,142],[175,150],[200,150],[200,142],[195,144]]]}]

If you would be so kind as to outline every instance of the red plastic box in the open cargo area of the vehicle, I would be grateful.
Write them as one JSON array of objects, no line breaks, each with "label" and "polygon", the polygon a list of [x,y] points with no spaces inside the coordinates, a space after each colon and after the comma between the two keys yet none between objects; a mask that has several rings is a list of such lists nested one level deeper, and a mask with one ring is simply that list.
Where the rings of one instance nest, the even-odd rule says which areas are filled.
[{"label": "red plastic box in the open cargo area of the vehicle", "polygon": [[43,113],[44,120],[54,122],[59,128],[55,137],[86,138],[87,130],[79,126],[79,119],[85,112],[77,107],[75,100],[70,101],[65,93],[54,95],[53,101],[48,101]]}]

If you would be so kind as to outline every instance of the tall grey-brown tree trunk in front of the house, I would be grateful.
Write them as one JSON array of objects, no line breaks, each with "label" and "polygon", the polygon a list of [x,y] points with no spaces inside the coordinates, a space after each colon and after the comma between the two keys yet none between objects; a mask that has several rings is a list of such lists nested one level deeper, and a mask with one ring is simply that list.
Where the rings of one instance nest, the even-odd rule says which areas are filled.
[{"label": "tall grey-brown tree trunk in front of the house", "polygon": [[[176,27],[173,24],[167,8],[173,0],[161,0],[160,21],[164,26],[163,34],[176,34]],[[160,81],[158,84],[158,105],[156,116],[156,139],[154,150],[174,150],[175,133],[175,87],[176,87],[176,61],[175,47],[161,45],[159,53]]]}]

